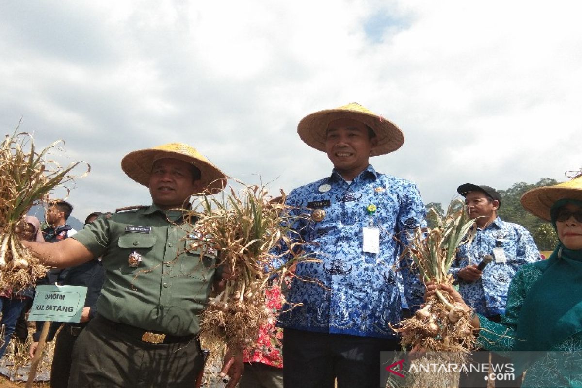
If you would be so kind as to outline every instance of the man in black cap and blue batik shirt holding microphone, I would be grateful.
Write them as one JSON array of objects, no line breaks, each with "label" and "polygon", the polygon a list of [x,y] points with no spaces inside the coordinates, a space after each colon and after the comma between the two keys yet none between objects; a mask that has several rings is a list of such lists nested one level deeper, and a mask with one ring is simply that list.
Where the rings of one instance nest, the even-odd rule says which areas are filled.
[{"label": "man in black cap and blue batik shirt holding microphone", "polygon": [[[457,188],[465,197],[469,216],[477,223],[471,244],[463,244],[450,273],[459,282],[459,293],[481,315],[499,322],[505,314],[509,283],[522,264],[541,259],[530,232],[497,216],[501,195],[492,187],[465,183]],[[481,271],[485,255],[492,261]]]}]

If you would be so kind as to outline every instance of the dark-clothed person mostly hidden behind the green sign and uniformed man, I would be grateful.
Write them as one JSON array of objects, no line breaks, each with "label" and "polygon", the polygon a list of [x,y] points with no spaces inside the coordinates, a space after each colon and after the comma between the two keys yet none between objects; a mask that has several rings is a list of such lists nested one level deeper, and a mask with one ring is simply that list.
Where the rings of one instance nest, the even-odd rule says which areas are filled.
[{"label": "dark-clothed person mostly hidden behind the green sign and uniformed man", "polygon": [[[93,222],[103,213],[93,212],[87,216],[85,225]],[[81,314],[79,323],[52,322],[47,335],[47,341],[52,341],[56,331],[61,328],[55,342],[55,352],[51,364],[51,388],[66,388],[69,384],[70,368],[73,362],[73,346],[79,334],[83,331],[90,319],[97,314],[97,298],[101,294],[101,287],[105,280],[105,271],[100,258],[95,258],[81,265],[67,268],[61,273],[59,283],[63,286],[84,286],[87,287],[85,307]],[[40,331],[33,334],[33,343],[30,346],[30,358],[34,358],[34,353],[40,340]]]}]

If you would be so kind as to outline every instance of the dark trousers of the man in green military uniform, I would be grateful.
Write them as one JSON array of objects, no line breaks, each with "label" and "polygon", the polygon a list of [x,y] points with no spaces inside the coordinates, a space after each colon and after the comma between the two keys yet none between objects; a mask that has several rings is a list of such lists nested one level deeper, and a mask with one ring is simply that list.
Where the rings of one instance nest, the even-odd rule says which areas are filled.
[{"label": "dark trousers of the man in green military uniform", "polygon": [[197,339],[151,344],[98,315],[77,338],[69,387],[191,388],[202,368]]}]

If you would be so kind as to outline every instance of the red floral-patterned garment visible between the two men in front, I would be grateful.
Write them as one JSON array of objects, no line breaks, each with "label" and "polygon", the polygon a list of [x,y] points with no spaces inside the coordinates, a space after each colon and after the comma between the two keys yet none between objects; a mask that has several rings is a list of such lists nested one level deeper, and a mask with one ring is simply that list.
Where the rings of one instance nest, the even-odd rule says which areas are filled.
[{"label": "red floral-patterned garment visible between the two men in front", "polygon": [[[274,285],[265,290],[265,306],[271,310],[273,316],[278,315],[283,305],[281,287]],[[260,362],[276,368],[283,368],[282,340],[283,329],[275,326],[275,319],[269,318],[261,326],[257,341],[253,348],[243,350],[244,362]]]}]

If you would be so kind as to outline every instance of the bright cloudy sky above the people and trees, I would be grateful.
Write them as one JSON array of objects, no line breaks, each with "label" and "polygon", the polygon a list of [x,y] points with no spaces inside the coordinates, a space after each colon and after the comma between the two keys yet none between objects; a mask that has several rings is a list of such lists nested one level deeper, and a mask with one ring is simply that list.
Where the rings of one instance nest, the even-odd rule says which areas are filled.
[{"label": "bright cloudy sky above the people and trees", "polygon": [[76,215],[148,204],[127,152],[181,141],[278,191],[331,172],[308,113],[359,102],[406,138],[371,158],[425,202],[582,167],[582,5],[553,1],[0,1],[0,126],[62,138]]}]

